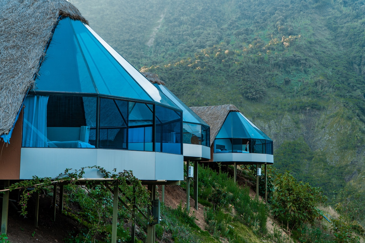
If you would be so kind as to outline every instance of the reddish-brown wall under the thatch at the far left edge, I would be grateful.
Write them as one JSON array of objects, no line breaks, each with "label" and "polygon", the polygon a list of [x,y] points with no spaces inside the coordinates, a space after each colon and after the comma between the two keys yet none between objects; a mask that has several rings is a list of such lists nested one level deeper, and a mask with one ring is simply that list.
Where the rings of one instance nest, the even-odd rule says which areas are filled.
[{"label": "reddish-brown wall under the thatch at the far left edge", "polygon": [[0,180],[19,180],[23,110],[15,124],[10,144],[0,141]]}]

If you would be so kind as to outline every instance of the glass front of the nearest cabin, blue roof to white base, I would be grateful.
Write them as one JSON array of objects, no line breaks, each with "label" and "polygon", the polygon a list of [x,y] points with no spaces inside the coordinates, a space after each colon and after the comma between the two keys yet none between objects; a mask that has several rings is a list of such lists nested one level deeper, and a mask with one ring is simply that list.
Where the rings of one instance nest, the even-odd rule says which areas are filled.
[{"label": "glass front of the nearest cabin, blue roof to white base", "polygon": [[89,26],[61,18],[24,100],[20,179],[98,165],[183,180],[182,154],[180,107]]}]

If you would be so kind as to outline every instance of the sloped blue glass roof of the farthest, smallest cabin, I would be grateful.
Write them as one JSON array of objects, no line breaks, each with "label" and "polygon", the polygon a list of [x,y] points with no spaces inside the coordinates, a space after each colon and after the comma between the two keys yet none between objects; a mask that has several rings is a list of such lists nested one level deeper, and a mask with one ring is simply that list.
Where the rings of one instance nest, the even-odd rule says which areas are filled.
[{"label": "sloped blue glass roof of the farthest, smallest cabin", "polygon": [[241,112],[228,113],[216,138],[255,138],[272,141]]}]

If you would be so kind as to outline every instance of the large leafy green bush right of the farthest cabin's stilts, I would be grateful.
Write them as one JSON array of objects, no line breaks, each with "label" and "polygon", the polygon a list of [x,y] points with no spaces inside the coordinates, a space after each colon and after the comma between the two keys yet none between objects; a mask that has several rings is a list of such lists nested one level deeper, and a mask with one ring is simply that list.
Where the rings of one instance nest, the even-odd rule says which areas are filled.
[{"label": "large leafy green bush right of the farthest cabin's stilts", "polygon": [[277,174],[275,187],[271,204],[273,215],[290,229],[297,229],[303,223],[312,224],[320,216],[316,207],[327,200],[320,188],[298,183],[289,172]]}]

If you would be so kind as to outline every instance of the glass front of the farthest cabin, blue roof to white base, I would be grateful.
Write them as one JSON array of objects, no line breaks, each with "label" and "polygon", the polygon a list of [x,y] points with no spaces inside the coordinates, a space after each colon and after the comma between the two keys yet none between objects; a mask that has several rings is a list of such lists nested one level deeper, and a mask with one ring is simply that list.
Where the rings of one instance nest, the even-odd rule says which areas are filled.
[{"label": "glass front of the farthest cabin, blue roof to white base", "polygon": [[273,141],[241,112],[228,113],[214,140],[214,161],[273,161]]}]

